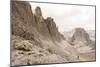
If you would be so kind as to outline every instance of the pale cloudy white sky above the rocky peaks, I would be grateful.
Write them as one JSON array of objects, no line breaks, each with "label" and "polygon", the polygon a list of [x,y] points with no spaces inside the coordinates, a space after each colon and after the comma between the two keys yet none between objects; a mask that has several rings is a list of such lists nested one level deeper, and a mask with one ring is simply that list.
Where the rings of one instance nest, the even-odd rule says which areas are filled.
[{"label": "pale cloudy white sky above the rocky peaks", "polygon": [[90,6],[75,6],[47,3],[30,3],[32,10],[41,7],[43,17],[52,17],[60,32],[69,31],[76,27],[86,30],[95,29],[95,8]]}]

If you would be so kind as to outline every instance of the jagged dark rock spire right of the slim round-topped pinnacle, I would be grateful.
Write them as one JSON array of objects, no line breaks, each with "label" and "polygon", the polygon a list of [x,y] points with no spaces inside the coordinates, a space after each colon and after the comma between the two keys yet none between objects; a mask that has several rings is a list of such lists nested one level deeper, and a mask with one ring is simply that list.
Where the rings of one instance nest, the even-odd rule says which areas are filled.
[{"label": "jagged dark rock spire right of the slim round-topped pinnacle", "polygon": [[47,19],[45,20],[48,31],[51,35],[52,38],[60,41],[61,39],[65,39],[64,36],[62,34],[60,34],[60,32],[58,31],[58,28],[54,22],[54,19],[52,17],[47,17]]}]

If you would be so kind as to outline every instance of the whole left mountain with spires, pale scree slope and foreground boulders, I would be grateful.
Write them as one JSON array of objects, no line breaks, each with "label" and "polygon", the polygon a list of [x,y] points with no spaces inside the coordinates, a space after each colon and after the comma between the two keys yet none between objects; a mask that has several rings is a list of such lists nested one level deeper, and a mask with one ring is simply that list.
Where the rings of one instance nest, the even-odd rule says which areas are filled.
[{"label": "whole left mountain with spires, pale scree slope and foreground boulders", "polygon": [[68,43],[52,17],[44,19],[39,6],[11,1],[11,65],[78,61],[77,50]]}]

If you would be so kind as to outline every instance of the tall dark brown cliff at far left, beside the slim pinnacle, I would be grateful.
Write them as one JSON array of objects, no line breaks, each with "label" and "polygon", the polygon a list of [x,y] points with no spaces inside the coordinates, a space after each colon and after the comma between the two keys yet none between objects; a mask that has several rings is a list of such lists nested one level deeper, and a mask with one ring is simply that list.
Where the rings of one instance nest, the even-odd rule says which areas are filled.
[{"label": "tall dark brown cliff at far left, beside the slim pinnacle", "polygon": [[[29,3],[11,1],[11,8],[12,34],[27,39],[34,39],[34,26],[32,22],[35,22],[35,19]],[[27,35],[30,36],[27,37]]]}]

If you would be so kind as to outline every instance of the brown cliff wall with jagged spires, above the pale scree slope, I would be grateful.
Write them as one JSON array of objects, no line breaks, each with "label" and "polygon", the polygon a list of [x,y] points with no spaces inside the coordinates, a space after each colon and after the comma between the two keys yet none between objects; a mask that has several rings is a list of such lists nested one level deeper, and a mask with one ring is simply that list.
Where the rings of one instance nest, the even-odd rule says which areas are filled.
[{"label": "brown cliff wall with jagged spires, above the pale scree slope", "polygon": [[[26,39],[34,39],[38,35],[52,36],[58,40],[64,37],[58,32],[53,18],[44,19],[40,7],[36,7],[35,14],[32,13],[31,6],[27,2],[12,1],[12,34],[19,35]],[[29,35],[27,37],[27,35]]]}]

